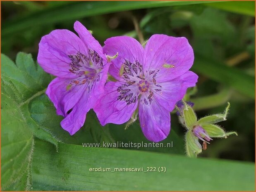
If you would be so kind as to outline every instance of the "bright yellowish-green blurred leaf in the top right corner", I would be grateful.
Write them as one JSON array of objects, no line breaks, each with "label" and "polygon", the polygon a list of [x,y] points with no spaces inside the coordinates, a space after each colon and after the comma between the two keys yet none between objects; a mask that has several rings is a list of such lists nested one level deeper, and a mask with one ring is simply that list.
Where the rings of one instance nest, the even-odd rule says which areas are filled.
[{"label": "bright yellowish-green blurred leaf in the top right corner", "polygon": [[228,1],[205,4],[225,11],[255,16],[255,1]]}]

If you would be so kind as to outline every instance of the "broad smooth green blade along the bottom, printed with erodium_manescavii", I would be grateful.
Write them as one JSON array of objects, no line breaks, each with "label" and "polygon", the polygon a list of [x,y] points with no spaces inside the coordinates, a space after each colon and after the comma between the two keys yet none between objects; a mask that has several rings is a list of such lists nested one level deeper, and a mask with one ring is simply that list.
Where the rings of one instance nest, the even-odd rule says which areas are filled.
[{"label": "broad smooth green blade along the bottom, printed with erodium_manescavii", "polygon": [[[90,168],[156,167],[156,172],[91,172]],[[158,167],[166,172],[159,173]],[[57,153],[47,142],[36,141],[33,189],[88,191],[218,191],[255,190],[255,165],[218,159],[135,150],[83,148],[60,144]]]}]

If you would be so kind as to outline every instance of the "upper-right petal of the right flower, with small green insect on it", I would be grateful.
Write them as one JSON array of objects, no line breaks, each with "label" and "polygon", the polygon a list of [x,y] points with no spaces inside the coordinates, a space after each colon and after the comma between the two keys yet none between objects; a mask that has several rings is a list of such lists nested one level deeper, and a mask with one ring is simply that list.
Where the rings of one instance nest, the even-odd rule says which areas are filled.
[{"label": "upper-right petal of the right flower, with small green insect on it", "polygon": [[[172,80],[188,71],[194,62],[192,47],[186,38],[153,35],[144,51],[144,71],[160,69],[156,81]],[[164,68],[163,65],[173,65]]]}]

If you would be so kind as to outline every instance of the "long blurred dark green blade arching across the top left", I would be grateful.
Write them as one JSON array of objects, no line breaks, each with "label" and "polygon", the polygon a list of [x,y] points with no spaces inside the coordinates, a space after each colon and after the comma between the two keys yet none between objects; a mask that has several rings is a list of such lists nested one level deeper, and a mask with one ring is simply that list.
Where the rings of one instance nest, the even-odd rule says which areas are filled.
[{"label": "long blurred dark green blade arching across the top left", "polygon": [[[209,1],[214,2],[214,1]],[[121,12],[133,9],[145,9],[151,7],[165,7],[176,5],[191,5],[206,3],[200,1],[110,1],[110,2],[74,2],[68,5],[61,5],[28,16],[6,21],[2,28],[2,36],[21,31],[23,29],[76,20],[84,17],[95,16],[99,14]]]}]

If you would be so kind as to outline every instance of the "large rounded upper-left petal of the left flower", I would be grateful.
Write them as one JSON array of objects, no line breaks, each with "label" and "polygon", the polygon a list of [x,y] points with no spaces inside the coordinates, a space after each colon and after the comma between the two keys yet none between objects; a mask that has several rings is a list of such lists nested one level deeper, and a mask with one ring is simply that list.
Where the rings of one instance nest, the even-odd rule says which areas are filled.
[{"label": "large rounded upper-left petal of the left flower", "polygon": [[54,76],[72,78],[75,75],[69,71],[71,60],[68,56],[77,52],[87,54],[86,46],[77,35],[65,29],[54,30],[39,43],[38,64]]}]

